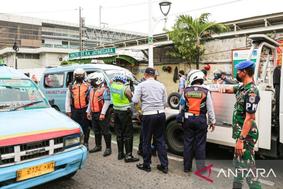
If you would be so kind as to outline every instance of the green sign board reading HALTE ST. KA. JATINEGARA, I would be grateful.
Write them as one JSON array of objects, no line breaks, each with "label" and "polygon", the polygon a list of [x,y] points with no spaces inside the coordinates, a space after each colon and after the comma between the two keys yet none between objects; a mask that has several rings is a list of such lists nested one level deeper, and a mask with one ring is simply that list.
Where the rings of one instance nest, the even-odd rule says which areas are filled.
[{"label": "green sign board reading HALTE ST. KA. JATINEGARA", "polygon": [[69,58],[78,58],[78,57],[85,57],[85,56],[98,56],[98,55],[105,55],[105,54],[114,54],[116,52],[115,47],[111,48],[101,48],[95,50],[86,50],[80,52],[72,52],[69,53]]}]

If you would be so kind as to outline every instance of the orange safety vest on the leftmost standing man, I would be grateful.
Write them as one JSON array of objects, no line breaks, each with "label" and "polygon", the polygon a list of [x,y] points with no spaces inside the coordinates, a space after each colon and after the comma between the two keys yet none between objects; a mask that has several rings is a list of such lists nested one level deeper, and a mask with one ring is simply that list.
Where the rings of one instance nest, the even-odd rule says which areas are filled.
[{"label": "orange safety vest on the leftmost standing man", "polygon": [[72,83],[70,86],[71,106],[75,109],[82,109],[89,103],[89,82],[82,82],[80,86]]}]

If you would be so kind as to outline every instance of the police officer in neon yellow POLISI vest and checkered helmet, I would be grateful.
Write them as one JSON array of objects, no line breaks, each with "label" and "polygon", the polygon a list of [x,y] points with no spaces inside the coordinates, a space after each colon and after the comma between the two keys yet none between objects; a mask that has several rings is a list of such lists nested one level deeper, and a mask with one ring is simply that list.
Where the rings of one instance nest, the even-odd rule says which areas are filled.
[{"label": "police officer in neon yellow POLISI vest and checkered helmet", "polygon": [[[140,159],[132,156],[133,150],[133,122],[130,102],[132,92],[128,86],[126,72],[121,70],[114,74],[115,82],[110,86],[113,97],[114,127],[117,134],[118,160],[125,158],[125,162],[137,162]],[[124,154],[124,144],[126,154]]]}]

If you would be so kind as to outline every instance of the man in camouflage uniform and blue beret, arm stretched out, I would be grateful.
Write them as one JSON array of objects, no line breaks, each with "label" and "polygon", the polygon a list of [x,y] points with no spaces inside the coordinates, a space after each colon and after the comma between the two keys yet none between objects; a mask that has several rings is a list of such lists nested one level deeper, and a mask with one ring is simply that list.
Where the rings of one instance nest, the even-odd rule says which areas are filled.
[{"label": "man in camouflage uniform and blue beret, arm stretched out", "polygon": [[[255,113],[260,101],[258,88],[253,80],[254,63],[249,60],[242,61],[235,65],[235,69],[237,70],[236,79],[242,83],[239,86],[219,88],[221,93],[236,94],[237,99],[234,106],[232,133],[232,137],[236,140],[233,165],[235,173],[237,171],[237,177],[234,177],[233,188],[242,188],[244,180],[242,175],[246,175],[250,169],[252,171],[249,171],[249,175],[246,176],[248,186],[261,188],[258,178],[253,175],[256,173],[254,145],[258,140]],[[239,169],[246,170],[243,170],[244,174],[242,174]]]}]

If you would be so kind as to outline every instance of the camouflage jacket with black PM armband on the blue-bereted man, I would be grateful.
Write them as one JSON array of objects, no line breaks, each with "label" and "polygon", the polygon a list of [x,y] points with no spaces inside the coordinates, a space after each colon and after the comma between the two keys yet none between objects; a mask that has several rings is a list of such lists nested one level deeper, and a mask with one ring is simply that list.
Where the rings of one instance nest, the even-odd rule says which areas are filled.
[{"label": "camouflage jacket with black PM armband on the blue-bereted man", "polygon": [[[234,93],[236,94],[237,101],[234,106],[233,113],[232,137],[234,139],[238,139],[243,129],[246,112],[256,112],[258,102],[260,101],[260,95],[254,81],[248,83],[246,86],[244,86],[243,84],[234,86],[233,89]],[[250,131],[246,136],[246,140],[251,144],[256,144],[256,141],[258,140],[258,128],[255,121],[252,123]]]}]

